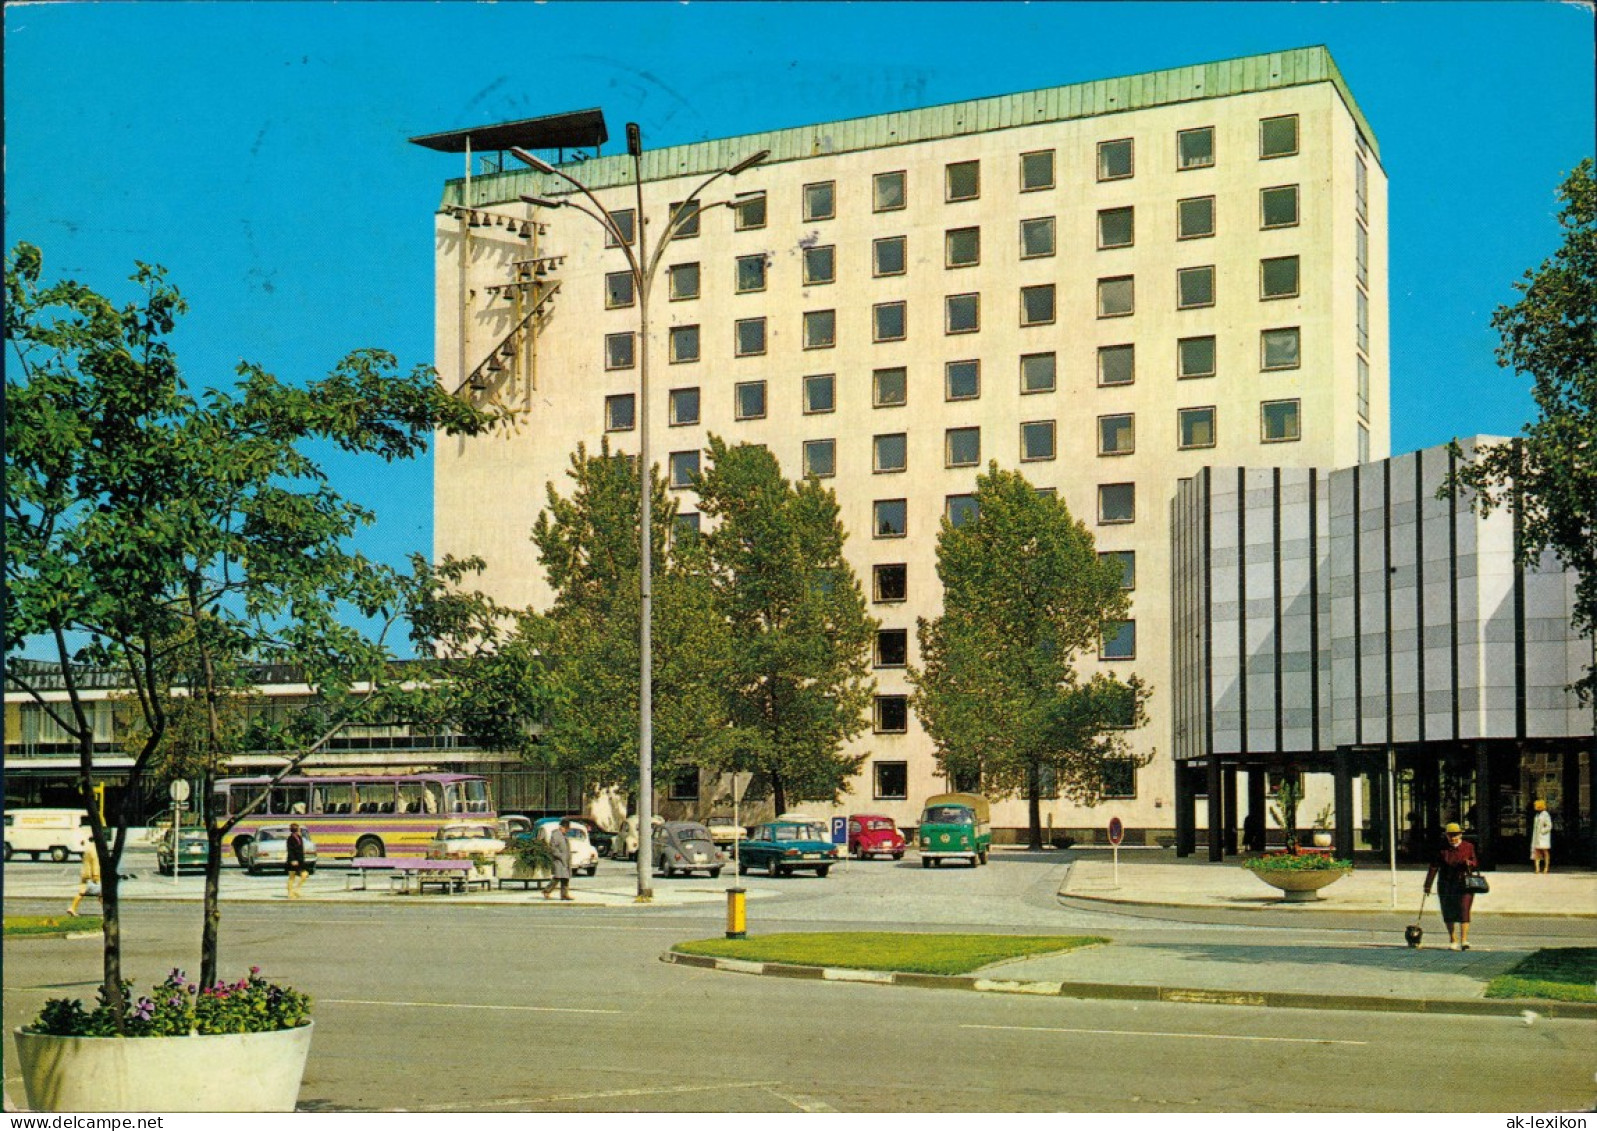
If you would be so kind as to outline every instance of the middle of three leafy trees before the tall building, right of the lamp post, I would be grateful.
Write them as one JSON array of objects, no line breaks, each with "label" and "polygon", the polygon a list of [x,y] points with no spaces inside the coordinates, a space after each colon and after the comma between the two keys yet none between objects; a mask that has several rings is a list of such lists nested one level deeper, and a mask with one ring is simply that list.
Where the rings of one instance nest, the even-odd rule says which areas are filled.
[{"label": "middle of three leafy trees before the tall building, right of the lamp post", "polygon": [[723,687],[736,732],[722,770],[760,775],[781,813],[791,797],[835,800],[864,754],[843,746],[866,728],[875,692],[877,621],[843,558],[837,497],[792,484],[763,447],[709,439],[693,481],[715,609],[731,631]]}]

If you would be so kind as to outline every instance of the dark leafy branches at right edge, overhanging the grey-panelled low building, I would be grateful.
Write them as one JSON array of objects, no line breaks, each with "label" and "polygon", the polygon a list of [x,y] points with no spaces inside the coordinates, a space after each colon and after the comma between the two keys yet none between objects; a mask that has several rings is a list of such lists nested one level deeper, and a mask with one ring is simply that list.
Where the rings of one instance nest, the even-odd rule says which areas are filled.
[{"label": "dark leafy branches at right edge, overhanging the grey-panelled low building", "polygon": [[[1552,550],[1576,573],[1575,626],[1597,631],[1597,171],[1581,161],[1559,187],[1563,243],[1514,284],[1519,302],[1498,307],[1498,364],[1530,374],[1538,415],[1517,442],[1477,450],[1458,482],[1479,492],[1484,513],[1519,511],[1522,561]],[[1455,444],[1456,450],[1456,444]],[[1445,490],[1445,489],[1444,489]],[[1597,665],[1576,684],[1597,695]]]}]

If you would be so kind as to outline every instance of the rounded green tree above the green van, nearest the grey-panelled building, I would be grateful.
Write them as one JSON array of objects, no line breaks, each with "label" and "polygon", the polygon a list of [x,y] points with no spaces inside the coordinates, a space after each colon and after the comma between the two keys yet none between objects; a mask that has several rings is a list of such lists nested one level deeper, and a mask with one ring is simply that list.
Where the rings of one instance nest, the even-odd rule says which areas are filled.
[{"label": "rounded green tree above the green van, nearest the grey-panelled building", "polygon": [[1121,567],[1099,559],[1062,498],[992,463],[974,516],[942,521],[937,577],[942,615],[920,620],[912,704],[944,773],[1030,802],[1040,848],[1044,794],[1092,804],[1107,759],[1150,760],[1126,743],[1143,720],[1142,681],[1076,669],[1129,610]]}]

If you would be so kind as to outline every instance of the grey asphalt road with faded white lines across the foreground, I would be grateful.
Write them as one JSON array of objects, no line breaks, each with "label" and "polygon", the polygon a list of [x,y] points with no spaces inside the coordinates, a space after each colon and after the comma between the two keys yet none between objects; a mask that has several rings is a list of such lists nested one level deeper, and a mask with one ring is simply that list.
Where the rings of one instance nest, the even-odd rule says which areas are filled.
[{"label": "grey asphalt road with faded white lines across the foreground", "polygon": [[[1049,871],[995,863],[921,882],[861,864],[767,880],[784,893],[751,899],[751,930],[1286,930],[1060,909]],[[139,984],[195,970],[196,911],[131,909]],[[1589,1022],[1073,1002],[658,962],[722,928],[714,904],[232,904],[222,973],[257,963],[316,998],[302,1110],[1551,1112],[1594,1097]],[[1354,930],[1367,927],[1297,933]],[[93,995],[97,976],[93,939],[8,942],[6,1029],[46,997]]]}]

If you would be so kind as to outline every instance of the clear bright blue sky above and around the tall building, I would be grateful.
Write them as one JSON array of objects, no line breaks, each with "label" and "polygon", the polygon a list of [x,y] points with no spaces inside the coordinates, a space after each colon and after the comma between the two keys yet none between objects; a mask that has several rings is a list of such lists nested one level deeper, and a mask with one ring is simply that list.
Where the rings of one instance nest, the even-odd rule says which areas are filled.
[{"label": "clear bright blue sky above and around the tall building", "polygon": [[[599,105],[647,145],[1324,43],[1391,181],[1393,450],[1532,415],[1492,310],[1592,152],[1592,11],[1535,3],[48,3],[5,10],[6,244],[192,313],[190,380],[359,347],[433,361],[433,211],[407,137]],[[607,152],[616,152],[612,141]],[[331,460],[367,550],[431,551],[431,466]]]}]

